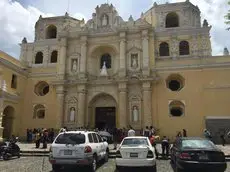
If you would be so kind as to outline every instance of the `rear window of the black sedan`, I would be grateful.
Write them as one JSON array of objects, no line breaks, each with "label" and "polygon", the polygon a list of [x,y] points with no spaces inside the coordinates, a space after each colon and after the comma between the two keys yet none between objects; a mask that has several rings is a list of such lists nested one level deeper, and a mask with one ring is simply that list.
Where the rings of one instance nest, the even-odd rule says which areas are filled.
[{"label": "rear window of the black sedan", "polygon": [[183,140],[184,149],[213,149],[215,145],[209,140]]}]

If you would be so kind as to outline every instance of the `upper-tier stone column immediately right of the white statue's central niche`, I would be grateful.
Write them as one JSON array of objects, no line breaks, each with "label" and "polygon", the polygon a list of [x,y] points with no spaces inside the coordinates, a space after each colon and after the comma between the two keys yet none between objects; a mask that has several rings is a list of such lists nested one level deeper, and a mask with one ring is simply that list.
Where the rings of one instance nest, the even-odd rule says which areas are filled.
[{"label": "upper-tier stone column immediately right of the white statue's central niche", "polygon": [[119,76],[126,76],[126,33],[120,33],[120,63],[119,63]]}]

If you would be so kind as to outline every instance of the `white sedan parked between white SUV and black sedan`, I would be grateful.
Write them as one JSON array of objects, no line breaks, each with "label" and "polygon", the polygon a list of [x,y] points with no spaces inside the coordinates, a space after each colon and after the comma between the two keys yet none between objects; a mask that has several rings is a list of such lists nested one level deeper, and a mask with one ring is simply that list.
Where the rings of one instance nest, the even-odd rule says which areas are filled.
[{"label": "white sedan parked between white SUV and black sedan", "polygon": [[147,167],[156,172],[156,155],[148,137],[125,137],[116,151],[116,169]]}]

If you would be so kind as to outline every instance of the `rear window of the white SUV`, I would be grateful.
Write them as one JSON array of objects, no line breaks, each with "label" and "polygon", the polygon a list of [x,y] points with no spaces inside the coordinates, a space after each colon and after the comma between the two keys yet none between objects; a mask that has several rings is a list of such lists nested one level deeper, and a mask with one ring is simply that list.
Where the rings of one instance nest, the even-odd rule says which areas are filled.
[{"label": "rear window of the white SUV", "polygon": [[55,140],[57,144],[83,144],[85,143],[84,134],[76,133],[63,133]]}]

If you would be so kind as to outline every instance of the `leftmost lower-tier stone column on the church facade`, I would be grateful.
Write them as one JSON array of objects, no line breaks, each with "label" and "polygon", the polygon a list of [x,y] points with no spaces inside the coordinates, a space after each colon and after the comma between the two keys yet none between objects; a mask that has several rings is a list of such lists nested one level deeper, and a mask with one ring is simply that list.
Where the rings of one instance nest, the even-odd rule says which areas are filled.
[{"label": "leftmost lower-tier stone column on the church facade", "polygon": [[56,123],[56,128],[59,129],[63,127],[63,122],[64,122],[64,86],[59,85],[56,87],[56,95],[57,95],[57,123]]}]

